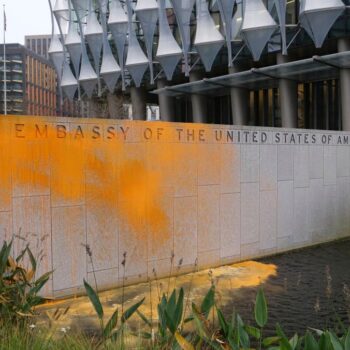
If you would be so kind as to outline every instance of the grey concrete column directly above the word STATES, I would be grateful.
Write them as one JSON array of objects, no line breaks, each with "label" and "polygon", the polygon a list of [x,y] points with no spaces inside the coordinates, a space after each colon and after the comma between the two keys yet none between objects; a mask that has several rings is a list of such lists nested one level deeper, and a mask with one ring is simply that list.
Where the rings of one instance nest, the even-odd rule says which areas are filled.
[{"label": "grey concrete column directly above the word STATES", "polygon": [[[277,54],[277,64],[288,62],[288,57]],[[280,79],[280,106],[282,128],[298,127],[298,84],[295,81]]]}]

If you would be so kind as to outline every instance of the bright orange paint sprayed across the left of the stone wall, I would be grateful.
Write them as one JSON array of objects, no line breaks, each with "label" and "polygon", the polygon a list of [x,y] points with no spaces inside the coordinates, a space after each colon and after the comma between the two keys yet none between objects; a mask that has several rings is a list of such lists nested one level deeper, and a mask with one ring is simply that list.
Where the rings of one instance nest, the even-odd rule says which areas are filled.
[{"label": "bright orange paint sprayed across the left of the stone wall", "polygon": [[[167,123],[147,124],[161,125],[162,132],[153,133],[159,142],[142,139],[144,123],[120,125],[124,131],[116,121],[1,117],[0,209],[10,205],[12,193],[51,195],[53,207],[90,203],[99,208],[101,226],[112,210],[139,239],[150,234],[165,242],[173,230],[173,197],[196,196],[198,185],[220,183],[220,145],[198,139],[212,132],[209,126],[191,125],[184,145]],[[128,127],[135,142],[125,142]]]}]

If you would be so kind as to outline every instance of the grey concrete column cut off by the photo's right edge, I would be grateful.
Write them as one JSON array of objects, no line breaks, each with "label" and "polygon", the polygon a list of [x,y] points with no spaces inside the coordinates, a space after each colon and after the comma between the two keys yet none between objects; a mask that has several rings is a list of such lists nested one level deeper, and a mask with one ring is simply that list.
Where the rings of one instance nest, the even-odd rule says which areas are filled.
[{"label": "grey concrete column cut off by the photo's right edge", "polygon": [[[338,52],[350,51],[350,40],[338,40]],[[341,96],[341,116],[343,131],[350,131],[350,69],[340,69],[339,84]]]}]

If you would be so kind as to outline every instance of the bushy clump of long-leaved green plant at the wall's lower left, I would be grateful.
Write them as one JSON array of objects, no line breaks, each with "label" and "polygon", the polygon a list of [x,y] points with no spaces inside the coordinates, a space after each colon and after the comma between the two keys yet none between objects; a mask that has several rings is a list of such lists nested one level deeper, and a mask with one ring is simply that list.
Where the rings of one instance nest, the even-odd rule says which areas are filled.
[{"label": "bushy clump of long-leaved green plant at the wall's lower left", "polygon": [[[34,307],[44,301],[39,294],[52,272],[35,279],[37,261],[27,245],[16,258],[11,257],[12,241],[0,250],[0,323],[23,324],[34,315]],[[28,260],[29,267],[24,268]]]}]

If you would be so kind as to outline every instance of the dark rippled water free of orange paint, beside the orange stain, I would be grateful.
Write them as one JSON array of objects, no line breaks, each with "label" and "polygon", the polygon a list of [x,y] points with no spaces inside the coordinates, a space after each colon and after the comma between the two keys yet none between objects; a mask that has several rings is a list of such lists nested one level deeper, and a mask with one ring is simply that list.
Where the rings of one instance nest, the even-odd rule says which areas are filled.
[{"label": "dark rippled water free of orange paint, beside the orange stain", "polygon": [[[269,308],[268,331],[280,323],[288,334],[307,327],[337,327],[350,322],[350,240],[306,248],[261,259],[277,266],[263,288]],[[233,295],[226,313],[235,307],[246,320],[253,319],[257,288]]]}]

